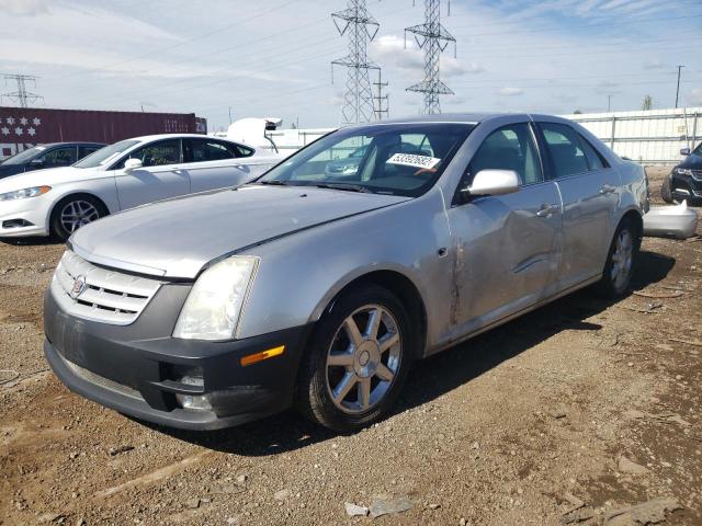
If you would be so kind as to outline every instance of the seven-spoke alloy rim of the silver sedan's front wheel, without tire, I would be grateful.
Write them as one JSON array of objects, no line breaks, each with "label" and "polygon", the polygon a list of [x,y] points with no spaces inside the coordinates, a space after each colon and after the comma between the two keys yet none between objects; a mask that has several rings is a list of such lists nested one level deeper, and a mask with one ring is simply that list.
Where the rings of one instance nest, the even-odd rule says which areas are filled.
[{"label": "seven-spoke alloy rim of the silver sedan's front wheel, without tire", "polygon": [[344,413],[362,413],[388,392],[403,359],[397,320],[380,305],[346,318],[327,352],[327,389]]}]

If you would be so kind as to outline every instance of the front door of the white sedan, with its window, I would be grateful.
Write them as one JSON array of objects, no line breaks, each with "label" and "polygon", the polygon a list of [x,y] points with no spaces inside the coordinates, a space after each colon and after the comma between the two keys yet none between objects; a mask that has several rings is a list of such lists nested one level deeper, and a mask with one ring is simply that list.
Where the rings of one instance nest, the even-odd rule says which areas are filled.
[{"label": "front door of the white sedan, with its window", "polygon": [[[127,159],[139,159],[141,168],[125,171]],[[128,153],[113,167],[120,208],[189,194],[190,179],[181,163],[181,139],[157,140]]]}]

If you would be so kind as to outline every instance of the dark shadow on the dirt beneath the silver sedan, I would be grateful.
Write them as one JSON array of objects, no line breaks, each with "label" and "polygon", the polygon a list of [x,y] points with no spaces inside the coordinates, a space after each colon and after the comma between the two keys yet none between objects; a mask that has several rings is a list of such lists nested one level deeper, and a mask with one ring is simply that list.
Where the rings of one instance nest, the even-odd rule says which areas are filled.
[{"label": "dark shadow on the dirt beneath the silver sedan", "polygon": [[[632,287],[638,290],[660,282],[675,262],[666,255],[642,252]],[[598,298],[591,289],[584,289],[422,361],[411,370],[392,414],[428,403],[565,329],[601,329],[585,320],[614,302]],[[192,444],[244,456],[275,455],[337,436],[335,432],[304,421],[293,411],[217,432],[184,432],[145,425]]]}]

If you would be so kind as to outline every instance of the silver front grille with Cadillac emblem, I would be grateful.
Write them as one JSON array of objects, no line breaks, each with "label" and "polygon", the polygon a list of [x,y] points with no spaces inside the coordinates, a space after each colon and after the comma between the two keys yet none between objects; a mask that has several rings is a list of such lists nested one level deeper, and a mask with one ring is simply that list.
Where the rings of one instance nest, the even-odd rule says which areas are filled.
[{"label": "silver front grille with Cadillac emblem", "polygon": [[54,273],[52,293],[61,309],[70,315],[128,325],[161,285],[162,282],[156,279],[102,268],[67,250]]}]

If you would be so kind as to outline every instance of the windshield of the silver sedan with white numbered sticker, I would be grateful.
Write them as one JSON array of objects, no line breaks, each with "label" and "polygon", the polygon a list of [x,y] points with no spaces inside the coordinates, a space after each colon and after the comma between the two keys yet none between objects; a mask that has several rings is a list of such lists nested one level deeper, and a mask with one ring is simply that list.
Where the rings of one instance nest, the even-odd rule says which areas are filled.
[{"label": "windshield of the silver sedan with white numbered sticker", "polygon": [[417,123],[341,129],[295,153],[256,183],[418,196],[434,184],[474,127]]}]

